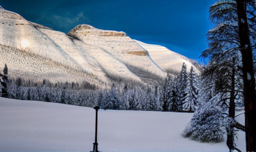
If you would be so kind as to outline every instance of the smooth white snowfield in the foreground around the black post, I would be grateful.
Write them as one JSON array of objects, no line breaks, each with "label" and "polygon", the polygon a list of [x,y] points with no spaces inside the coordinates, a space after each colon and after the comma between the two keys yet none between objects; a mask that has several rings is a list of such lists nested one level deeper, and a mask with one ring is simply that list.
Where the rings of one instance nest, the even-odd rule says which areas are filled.
[{"label": "smooth white snowfield in the foreground around the black post", "polygon": [[[100,110],[100,151],[229,151],[226,141],[184,139],[193,113]],[[239,116],[244,121],[244,116]],[[92,151],[95,110],[0,98],[0,151]],[[245,150],[245,134],[238,146]]]}]

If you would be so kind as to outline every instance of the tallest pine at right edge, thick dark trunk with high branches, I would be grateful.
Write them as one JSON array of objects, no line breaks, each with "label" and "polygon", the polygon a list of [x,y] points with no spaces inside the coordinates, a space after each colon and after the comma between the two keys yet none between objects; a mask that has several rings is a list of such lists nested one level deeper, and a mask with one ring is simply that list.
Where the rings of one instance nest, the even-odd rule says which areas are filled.
[{"label": "tallest pine at right edge, thick dark trunk with high branches", "polygon": [[213,59],[228,52],[242,55],[247,151],[256,151],[255,55],[252,53],[256,48],[255,3],[254,0],[221,0],[213,4],[210,19],[217,26],[207,33],[210,48],[202,53],[204,58]]}]

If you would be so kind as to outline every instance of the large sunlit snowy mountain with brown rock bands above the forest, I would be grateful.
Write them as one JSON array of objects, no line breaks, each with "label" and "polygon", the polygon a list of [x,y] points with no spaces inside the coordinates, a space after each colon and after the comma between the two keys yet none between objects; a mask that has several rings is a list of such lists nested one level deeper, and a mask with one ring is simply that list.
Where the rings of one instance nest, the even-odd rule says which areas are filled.
[{"label": "large sunlit snowy mountain with brown rock bands above the forest", "polygon": [[[6,63],[13,78],[51,83],[89,82],[101,87],[127,80],[157,84],[168,70],[154,56],[163,56],[165,52],[151,53],[138,43],[124,32],[90,25],[78,25],[65,34],[0,7],[0,68]],[[172,58],[169,63],[177,61]],[[179,60],[167,66],[178,71],[182,63]]]}]

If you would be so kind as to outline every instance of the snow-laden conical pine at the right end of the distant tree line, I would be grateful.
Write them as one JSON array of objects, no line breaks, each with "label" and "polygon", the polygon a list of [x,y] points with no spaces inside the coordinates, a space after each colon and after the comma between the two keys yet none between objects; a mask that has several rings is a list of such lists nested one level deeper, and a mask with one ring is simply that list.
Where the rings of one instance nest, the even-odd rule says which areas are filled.
[{"label": "snow-laden conical pine at the right end of the distant tree line", "polygon": [[183,111],[195,111],[195,105],[197,104],[197,96],[199,91],[197,77],[198,76],[194,71],[193,66],[191,66],[190,71],[188,73],[188,83],[186,88],[187,98],[184,100]]}]

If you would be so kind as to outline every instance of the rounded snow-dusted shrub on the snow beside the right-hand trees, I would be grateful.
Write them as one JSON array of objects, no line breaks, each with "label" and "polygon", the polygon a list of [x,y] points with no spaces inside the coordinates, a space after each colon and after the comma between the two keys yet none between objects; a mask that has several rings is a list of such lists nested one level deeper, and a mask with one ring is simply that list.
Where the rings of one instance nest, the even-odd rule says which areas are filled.
[{"label": "rounded snow-dusted shrub on the snow beside the right-hand trees", "polygon": [[183,137],[203,143],[222,142],[224,134],[221,109],[211,102],[199,106],[183,131]]}]

